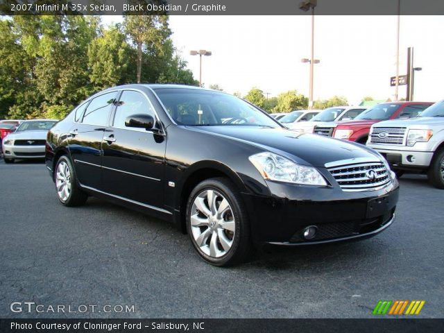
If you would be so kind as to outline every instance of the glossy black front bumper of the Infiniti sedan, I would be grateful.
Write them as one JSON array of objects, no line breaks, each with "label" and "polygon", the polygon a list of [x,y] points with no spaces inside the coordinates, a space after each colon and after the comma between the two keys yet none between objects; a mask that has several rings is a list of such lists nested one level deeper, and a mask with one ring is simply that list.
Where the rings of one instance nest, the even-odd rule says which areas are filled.
[{"label": "glossy black front bumper of the Infiniti sedan", "polygon": [[[273,196],[244,194],[253,241],[259,244],[308,245],[373,237],[393,223],[399,185],[377,191],[273,183]],[[302,236],[316,226],[313,239]]]}]

